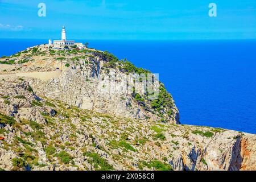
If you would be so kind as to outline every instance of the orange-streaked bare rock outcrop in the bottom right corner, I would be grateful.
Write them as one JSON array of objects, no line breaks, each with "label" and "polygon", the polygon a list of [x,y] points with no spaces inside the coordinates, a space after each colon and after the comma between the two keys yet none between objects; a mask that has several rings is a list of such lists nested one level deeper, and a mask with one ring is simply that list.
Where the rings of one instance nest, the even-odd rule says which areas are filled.
[{"label": "orange-streaked bare rock outcrop in the bottom right corner", "polygon": [[[235,135],[234,135],[235,134]],[[237,135],[237,136],[236,136]],[[233,136],[233,137],[230,137]],[[240,135],[234,131],[217,133],[212,139],[204,142],[203,147],[184,147],[176,152],[172,166],[176,170],[255,170],[255,135]],[[245,138],[253,138],[247,142],[245,157]],[[249,145],[249,146],[248,146]],[[248,163],[250,161],[250,164]],[[250,168],[246,168],[246,163]]]}]

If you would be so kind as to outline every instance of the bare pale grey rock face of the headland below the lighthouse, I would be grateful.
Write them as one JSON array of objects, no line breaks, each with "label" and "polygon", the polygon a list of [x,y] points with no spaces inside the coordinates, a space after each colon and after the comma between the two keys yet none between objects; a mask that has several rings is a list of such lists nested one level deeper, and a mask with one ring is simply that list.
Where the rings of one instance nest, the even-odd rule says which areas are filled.
[{"label": "bare pale grey rock face of the headland below the lighthouse", "polygon": [[[170,108],[163,107],[155,113],[150,103],[146,100],[139,103],[129,93],[127,80],[129,75],[118,69],[109,69],[109,73],[104,71],[104,61],[99,57],[90,59],[91,64],[84,64],[78,67],[73,65],[64,69],[61,75],[49,81],[31,79],[30,84],[35,93],[54,98],[80,107],[101,113],[110,113],[118,116],[133,119],[150,119],[151,121],[165,119],[166,122],[179,123],[179,111],[175,104]],[[105,68],[106,69],[106,68]],[[138,85],[138,90],[143,90],[142,85]],[[171,98],[171,101],[174,101]],[[168,116],[167,111],[172,110]]]}]

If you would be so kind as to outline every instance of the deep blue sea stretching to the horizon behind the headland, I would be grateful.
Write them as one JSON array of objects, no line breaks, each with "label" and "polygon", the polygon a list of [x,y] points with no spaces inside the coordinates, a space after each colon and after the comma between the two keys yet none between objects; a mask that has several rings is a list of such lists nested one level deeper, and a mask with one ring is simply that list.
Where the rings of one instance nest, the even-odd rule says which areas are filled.
[{"label": "deep blue sea stretching to the horizon behind the headland", "polygon": [[[256,133],[256,41],[77,40],[159,73],[189,125]],[[0,39],[0,56],[47,40]]]}]

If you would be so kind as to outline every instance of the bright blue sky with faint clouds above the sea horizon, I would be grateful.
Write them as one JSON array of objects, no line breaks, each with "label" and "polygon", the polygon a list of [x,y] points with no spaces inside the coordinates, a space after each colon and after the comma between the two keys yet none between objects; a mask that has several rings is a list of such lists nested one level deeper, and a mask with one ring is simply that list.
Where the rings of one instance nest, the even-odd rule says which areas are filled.
[{"label": "bright blue sky with faint clouds above the sea horizon", "polygon": [[256,39],[256,1],[0,0],[0,38],[57,39],[63,25],[68,39]]}]

